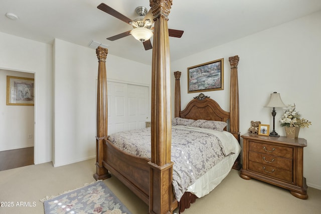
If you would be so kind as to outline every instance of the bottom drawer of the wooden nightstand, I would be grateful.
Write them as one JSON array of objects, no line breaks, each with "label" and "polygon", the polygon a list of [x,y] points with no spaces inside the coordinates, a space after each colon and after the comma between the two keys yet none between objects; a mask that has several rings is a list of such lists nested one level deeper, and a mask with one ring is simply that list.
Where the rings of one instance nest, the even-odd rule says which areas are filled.
[{"label": "bottom drawer of the wooden nightstand", "polygon": [[292,171],[280,169],[273,166],[268,166],[265,164],[249,161],[249,170],[259,172],[271,177],[282,179],[288,182],[292,182]]}]

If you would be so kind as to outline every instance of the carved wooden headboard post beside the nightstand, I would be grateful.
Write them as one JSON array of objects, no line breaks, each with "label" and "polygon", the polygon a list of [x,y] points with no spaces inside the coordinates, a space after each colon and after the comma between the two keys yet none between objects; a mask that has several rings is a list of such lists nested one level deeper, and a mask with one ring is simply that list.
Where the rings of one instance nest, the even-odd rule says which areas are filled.
[{"label": "carved wooden headboard post beside the nightstand", "polygon": [[[237,65],[239,63],[239,56],[229,57],[231,66],[230,78],[230,132],[240,142],[240,112],[239,112],[239,84]],[[240,170],[242,167],[240,156],[235,161],[233,168]]]}]

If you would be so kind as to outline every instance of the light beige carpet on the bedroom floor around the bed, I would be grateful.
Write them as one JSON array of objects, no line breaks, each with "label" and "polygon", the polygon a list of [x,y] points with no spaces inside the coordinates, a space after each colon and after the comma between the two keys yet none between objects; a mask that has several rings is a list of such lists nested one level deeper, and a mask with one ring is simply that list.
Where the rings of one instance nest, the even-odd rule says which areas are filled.
[{"label": "light beige carpet on the bedroom floor around the bed", "polygon": [[[14,204],[0,207],[0,213],[44,213],[39,200],[93,182],[94,163],[95,159],[90,159],[53,167],[50,162],[0,171],[0,201]],[[148,213],[148,206],[117,178],[112,176],[104,183],[133,214]],[[298,199],[288,190],[255,179],[244,180],[232,170],[219,186],[183,213],[321,213],[321,190],[308,187],[307,193],[308,199]]]}]

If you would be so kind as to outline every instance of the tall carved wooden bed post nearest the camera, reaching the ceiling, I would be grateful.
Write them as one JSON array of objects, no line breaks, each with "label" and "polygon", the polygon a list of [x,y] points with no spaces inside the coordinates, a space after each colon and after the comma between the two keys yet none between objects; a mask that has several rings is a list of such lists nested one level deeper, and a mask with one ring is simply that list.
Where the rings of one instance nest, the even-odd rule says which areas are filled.
[{"label": "tall carved wooden bed post nearest the camera, reaching the ceiling", "polygon": [[171,84],[168,15],[172,0],[149,0],[154,17],[151,65],[149,213],[172,213]]}]

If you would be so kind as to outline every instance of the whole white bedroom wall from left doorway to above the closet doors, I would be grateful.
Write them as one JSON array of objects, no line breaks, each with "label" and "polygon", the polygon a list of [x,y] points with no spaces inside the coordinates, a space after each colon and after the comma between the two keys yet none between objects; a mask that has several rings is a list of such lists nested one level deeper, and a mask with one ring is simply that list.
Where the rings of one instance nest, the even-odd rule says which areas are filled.
[{"label": "whole white bedroom wall from left doorway to above the closet doors", "polygon": [[[61,40],[53,48],[4,33],[0,33],[0,47],[0,69],[35,75],[35,164],[54,160],[58,166],[93,157],[95,50]],[[106,68],[109,79],[150,85],[150,66],[108,54]]]}]

